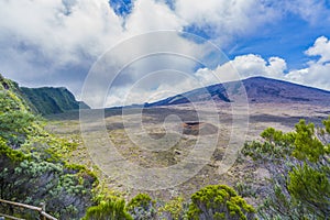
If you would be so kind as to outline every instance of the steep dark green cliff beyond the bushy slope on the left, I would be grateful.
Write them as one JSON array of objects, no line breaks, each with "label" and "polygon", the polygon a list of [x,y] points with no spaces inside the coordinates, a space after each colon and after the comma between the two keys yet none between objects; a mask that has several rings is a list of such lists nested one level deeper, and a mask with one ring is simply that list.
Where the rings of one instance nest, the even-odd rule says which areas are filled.
[{"label": "steep dark green cliff beyond the bushy slope on the left", "polygon": [[76,101],[74,95],[64,87],[20,88],[24,97],[33,105],[38,113],[53,114],[65,111],[89,108],[86,103]]}]

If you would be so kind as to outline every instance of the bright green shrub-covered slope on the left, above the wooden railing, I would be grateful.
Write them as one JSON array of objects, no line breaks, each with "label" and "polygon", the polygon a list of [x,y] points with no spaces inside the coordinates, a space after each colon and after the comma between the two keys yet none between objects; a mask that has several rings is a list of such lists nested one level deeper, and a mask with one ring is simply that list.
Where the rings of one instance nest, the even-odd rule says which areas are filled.
[{"label": "bright green shrub-covered slope on the left, above the wooden railing", "polygon": [[[62,219],[80,219],[92,206],[97,177],[68,156],[77,144],[47,133],[18,85],[0,75],[0,198],[40,206]],[[36,219],[37,212],[0,206],[0,212]]]}]

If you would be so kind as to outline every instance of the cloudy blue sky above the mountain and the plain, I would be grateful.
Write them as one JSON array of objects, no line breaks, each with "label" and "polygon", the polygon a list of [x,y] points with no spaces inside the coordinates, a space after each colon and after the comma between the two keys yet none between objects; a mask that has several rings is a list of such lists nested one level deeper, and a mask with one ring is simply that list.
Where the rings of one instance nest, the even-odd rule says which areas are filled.
[{"label": "cloudy blue sky above the mountain and the plain", "polygon": [[235,73],[330,90],[329,24],[330,0],[0,0],[0,73],[95,108]]}]

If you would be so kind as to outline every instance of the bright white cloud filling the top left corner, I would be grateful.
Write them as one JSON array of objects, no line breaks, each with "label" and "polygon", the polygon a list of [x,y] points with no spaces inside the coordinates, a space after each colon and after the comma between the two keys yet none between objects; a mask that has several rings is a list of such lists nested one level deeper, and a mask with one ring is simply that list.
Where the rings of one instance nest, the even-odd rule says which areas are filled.
[{"label": "bright white cloud filling the top left corner", "polygon": [[121,21],[107,1],[79,0],[69,13],[59,0],[1,1],[0,8],[1,30],[56,65],[77,62],[78,51],[98,55],[121,36]]}]

